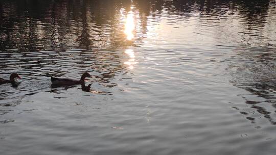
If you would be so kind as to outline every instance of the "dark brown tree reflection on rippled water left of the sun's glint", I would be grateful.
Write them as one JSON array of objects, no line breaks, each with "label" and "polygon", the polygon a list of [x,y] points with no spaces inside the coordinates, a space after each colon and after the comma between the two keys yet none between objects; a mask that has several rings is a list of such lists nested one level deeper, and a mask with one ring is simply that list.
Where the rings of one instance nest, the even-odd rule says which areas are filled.
[{"label": "dark brown tree reflection on rippled water left of the sun's glint", "polygon": [[2,1],[0,4],[2,50],[126,45],[121,33],[125,21],[120,17],[130,9],[129,1]]}]

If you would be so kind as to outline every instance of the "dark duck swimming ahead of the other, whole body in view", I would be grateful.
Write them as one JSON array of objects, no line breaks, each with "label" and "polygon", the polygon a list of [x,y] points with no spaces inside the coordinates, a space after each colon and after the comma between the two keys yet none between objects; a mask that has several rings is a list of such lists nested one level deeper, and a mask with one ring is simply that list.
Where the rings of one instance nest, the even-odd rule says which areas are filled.
[{"label": "dark duck swimming ahead of the other, whole body in view", "polygon": [[79,84],[84,84],[85,77],[92,77],[92,76],[88,72],[84,72],[80,80],[51,76],[51,82],[52,82],[52,86],[54,87],[79,85]]}]

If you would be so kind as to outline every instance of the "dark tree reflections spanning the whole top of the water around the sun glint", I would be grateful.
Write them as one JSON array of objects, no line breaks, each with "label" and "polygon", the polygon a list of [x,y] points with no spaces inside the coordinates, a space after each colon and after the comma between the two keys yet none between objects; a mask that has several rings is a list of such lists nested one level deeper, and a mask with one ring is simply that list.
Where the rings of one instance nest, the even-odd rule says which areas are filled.
[{"label": "dark tree reflections spanning the whole top of the water around the sun glint", "polygon": [[[270,1],[1,1],[0,49],[65,50],[66,48],[117,48],[128,46],[122,30],[131,5],[139,13],[141,29],[147,32],[149,16],[166,8],[189,16],[222,16],[226,11],[243,16],[240,23],[243,39],[249,40],[252,29],[258,32],[266,23]],[[257,7],[256,7],[257,6]],[[164,11],[164,10],[163,10]],[[183,14],[182,14],[183,13]],[[207,21],[208,19],[204,19]],[[212,24],[212,21],[210,21]],[[222,25],[223,26],[223,25]],[[136,38],[137,40],[138,38]],[[139,39],[138,39],[139,40]]]}]

